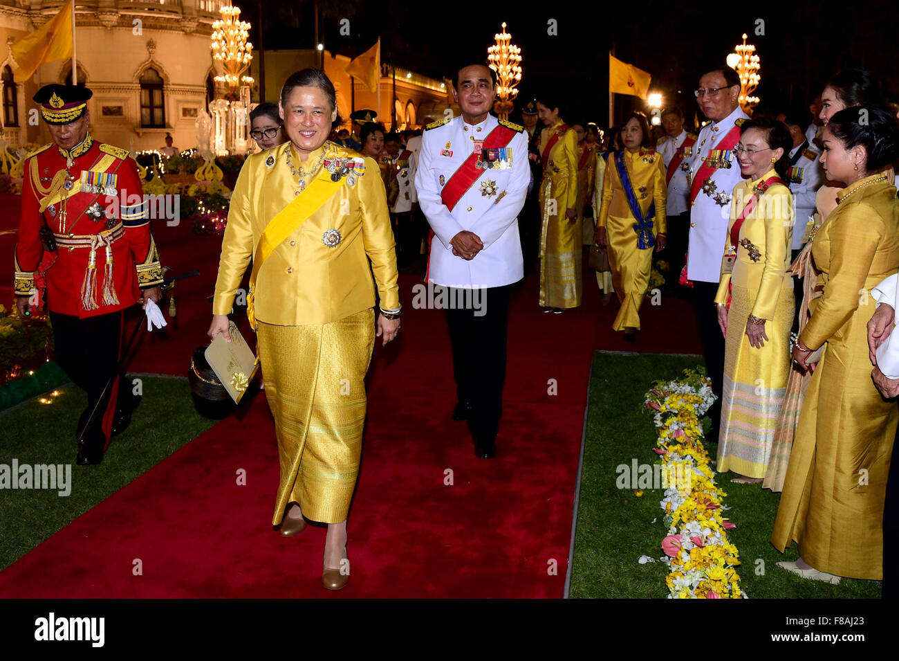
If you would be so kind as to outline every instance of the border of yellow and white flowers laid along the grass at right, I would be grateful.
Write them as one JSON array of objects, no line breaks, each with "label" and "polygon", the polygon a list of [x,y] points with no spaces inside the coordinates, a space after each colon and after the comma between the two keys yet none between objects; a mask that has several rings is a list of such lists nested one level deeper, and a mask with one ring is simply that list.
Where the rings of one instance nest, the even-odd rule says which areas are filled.
[{"label": "border of yellow and white flowers laid along the grass at right", "polygon": [[740,559],[725,533],[735,526],[722,516],[726,494],[715,485],[702,444],[701,418],[715,398],[711,381],[691,370],[680,380],[656,382],[645,395],[658,429],[653,451],[662,460],[663,476],[669,476],[659,504],[668,526],[662,549],[670,569],[665,578],[669,598],[745,597],[734,569]]}]

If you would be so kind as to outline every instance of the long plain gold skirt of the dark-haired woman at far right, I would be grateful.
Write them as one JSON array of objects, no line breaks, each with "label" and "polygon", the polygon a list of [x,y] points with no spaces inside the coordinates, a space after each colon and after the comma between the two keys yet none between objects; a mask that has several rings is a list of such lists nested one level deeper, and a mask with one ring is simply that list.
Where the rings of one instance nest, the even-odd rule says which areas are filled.
[{"label": "long plain gold skirt of the dark-haired woman at far right", "polygon": [[859,306],[828,339],[812,373],[771,543],[783,551],[797,541],[800,557],[818,571],[880,580],[899,410],[871,382],[872,313]]}]

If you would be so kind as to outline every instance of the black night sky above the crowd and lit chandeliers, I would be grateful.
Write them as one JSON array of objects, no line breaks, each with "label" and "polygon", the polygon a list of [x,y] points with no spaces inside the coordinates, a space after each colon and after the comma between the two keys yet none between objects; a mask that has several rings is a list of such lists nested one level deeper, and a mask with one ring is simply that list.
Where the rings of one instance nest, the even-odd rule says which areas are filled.
[{"label": "black night sky above the crowd and lit chandeliers", "polygon": [[[259,45],[260,3],[266,49],[314,48],[312,0],[235,0],[242,18],[253,23],[254,48]],[[555,96],[566,121],[582,119],[601,126],[608,121],[610,49],[652,74],[650,89],[661,92],[666,105],[676,103],[691,117],[697,110],[693,90],[699,75],[709,64],[723,64],[743,32],[761,58],[761,85],[754,93],[761,97],[760,108],[806,109],[823,81],[847,67],[868,68],[880,76],[891,97],[899,93],[897,10],[895,3],[882,0],[844,4],[840,11],[823,9],[825,4],[788,3],[777,11],[746,6],[721,10],[712,4],[689,10],[686,3],[655,2],[545,3],[524,11],[516,6],[322,0],[320,40],[326,49],[354,57],[380,35],[383,62],[441,78],[452,76],[460,63],[485,61],[486,49],[505,21],[512,43],[522,50],[518,100]],[[350,21],[350,36],[340,34],[344,18]],[[547,33],[550,20],[556,21],[556,35]],[[616,113],[631,109],[645,106],[636,97],[617,94]]]}]

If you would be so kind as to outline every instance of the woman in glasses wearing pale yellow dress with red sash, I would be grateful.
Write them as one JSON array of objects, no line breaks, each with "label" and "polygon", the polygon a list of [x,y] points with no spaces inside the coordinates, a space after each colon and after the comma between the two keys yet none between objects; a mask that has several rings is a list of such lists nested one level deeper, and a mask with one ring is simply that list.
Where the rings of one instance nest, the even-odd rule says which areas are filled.
[{"label": "woman in glasses wearing pale yellow dress with red sash", "polygon": [[789,375],[796,311],[787,269],[792,195],[783,177],[792,147],[787,126],[764,118],[740,129],[736,157],[748,179],[734,186],[715,303],[725,335],[725,380],[717,470],[760,483]]}]

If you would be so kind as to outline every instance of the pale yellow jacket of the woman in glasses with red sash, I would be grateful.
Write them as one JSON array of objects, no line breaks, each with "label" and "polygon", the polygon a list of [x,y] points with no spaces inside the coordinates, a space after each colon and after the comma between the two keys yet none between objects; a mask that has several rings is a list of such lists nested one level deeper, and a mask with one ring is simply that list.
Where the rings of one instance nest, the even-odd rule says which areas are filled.
[{"label": "pale yellow jacket of the woman in glasses with red sash", "polygon": [[[731,228],[743,213],[743,207],[752,199],[754,194],[752,187],[772,176],[777,176],[773,168],[757,179],[740,182],[734,186],[731,218],[727,225],[725,238],[725,255],[721,262],[722,269],[727,255],[734,254],[730,236]],[[721,281],[715,297],[716,303],[726,305],[728,285],[733,281],[734,287],[744,287],[752,292],[758,292],[755,302],[752,304],[753,317],[774,318],[780,290],[793,287],[793,279],[787,273],[792,262],[790,251],[793,236],[791,198],[792,194],[789,188],[780,183],[772,184],[759,196],[755,208],[749,212],[740,227],[740,237],[737,241],[740,245],[735,246],[734,272],[721,273]],[[755,259],[752,259],[753,256]]]}]

